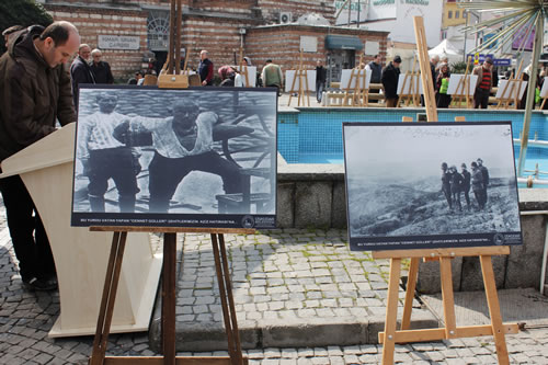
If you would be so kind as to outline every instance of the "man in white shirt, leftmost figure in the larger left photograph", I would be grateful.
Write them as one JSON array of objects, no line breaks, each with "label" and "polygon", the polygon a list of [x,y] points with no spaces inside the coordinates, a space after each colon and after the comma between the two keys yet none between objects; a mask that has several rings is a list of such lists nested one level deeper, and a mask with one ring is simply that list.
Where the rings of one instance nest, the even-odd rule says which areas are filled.
[{"label": "man in white shirt, leftmost figure in the larger left photograph", "polygon": [[114,111],[117,101],[114,92],[99,94],[99,111],[79,122],[77,157],[90,181],[88,196],[92,212],[105,212],[104,195],[110,179],[116,185],[122,213],[135,210],[135,195],[139,192],[136,178],[140,171],[138,156],[113,135],[114,129],[128,118]]}]

